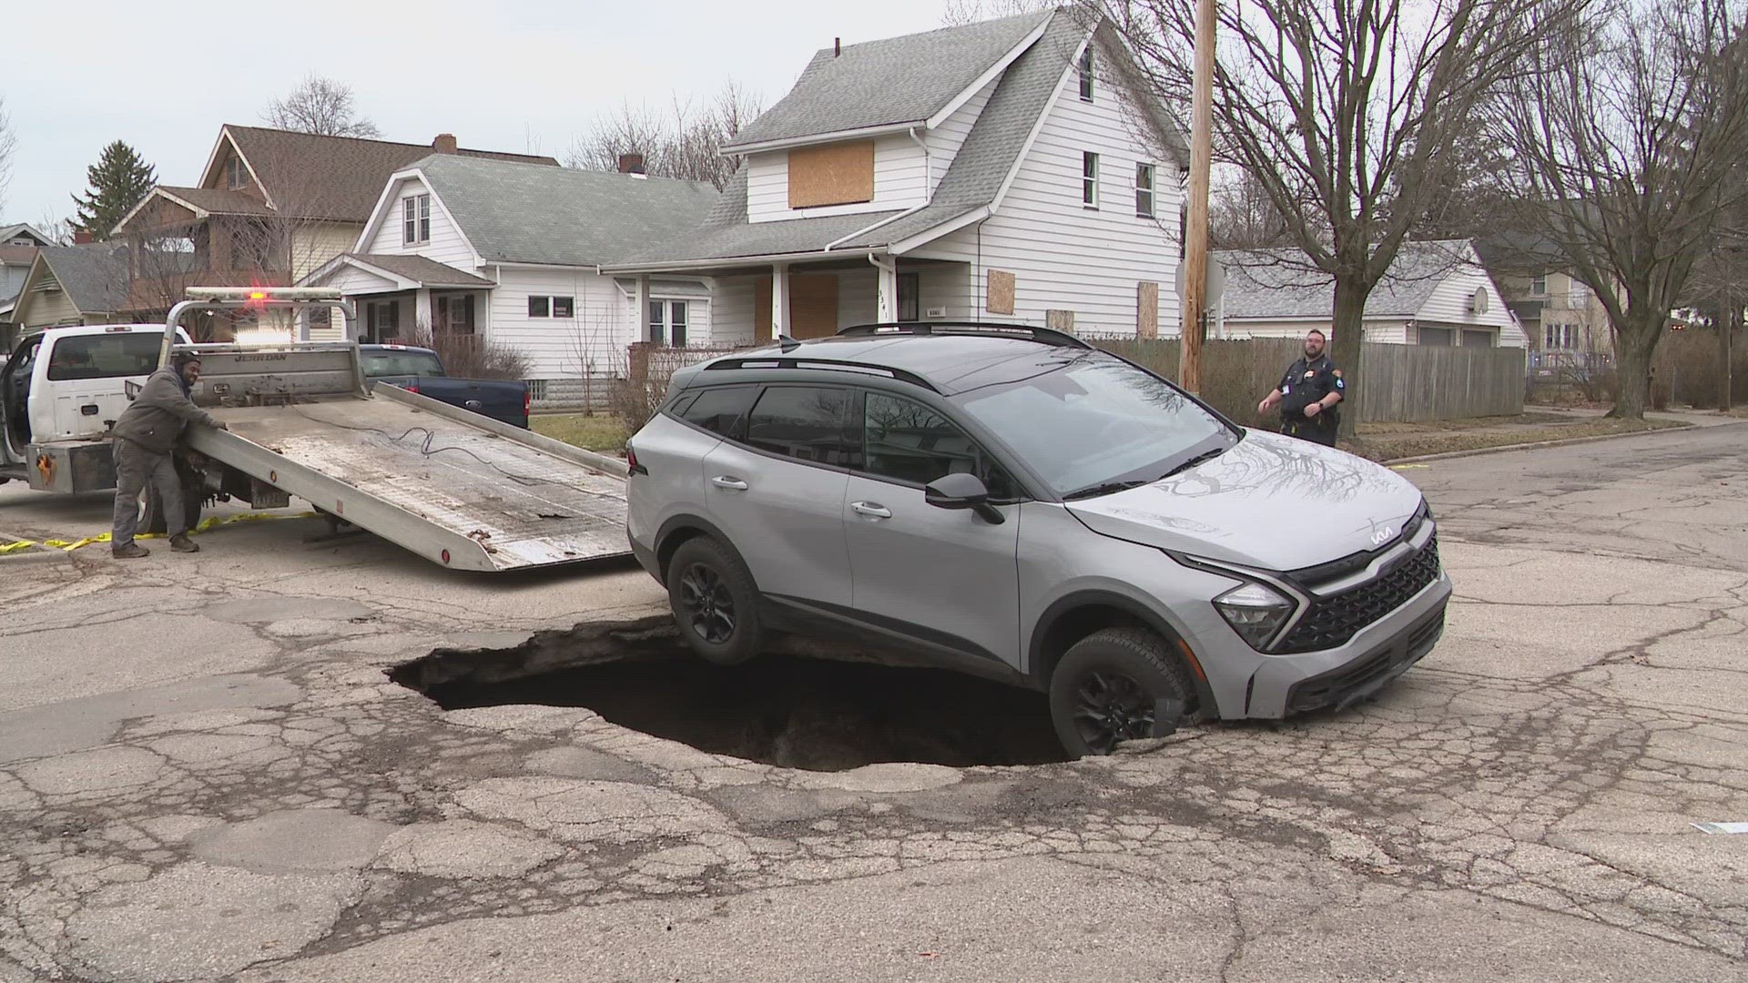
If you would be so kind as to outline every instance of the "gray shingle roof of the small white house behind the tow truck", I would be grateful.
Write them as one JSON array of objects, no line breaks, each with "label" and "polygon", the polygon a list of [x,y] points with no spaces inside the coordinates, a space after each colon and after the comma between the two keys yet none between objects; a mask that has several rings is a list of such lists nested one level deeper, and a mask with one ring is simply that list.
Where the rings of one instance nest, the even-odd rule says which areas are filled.
[{"label": "gray shingle roof of the small white house behind the tow truck", "polygon": [[416,166],[486,262],[622,262],[694,233],[718,198],[710,182],[451,154]]}]

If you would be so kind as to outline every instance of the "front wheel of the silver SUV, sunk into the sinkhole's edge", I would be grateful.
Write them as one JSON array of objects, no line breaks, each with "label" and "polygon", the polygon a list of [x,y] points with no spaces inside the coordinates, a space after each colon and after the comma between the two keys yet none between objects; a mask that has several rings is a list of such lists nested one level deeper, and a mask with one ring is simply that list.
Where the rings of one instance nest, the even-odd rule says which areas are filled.
[{"label": "front wheel of the silver SUV, sunk into the sinkhole's edge", "polygon": [[[1154,735],[1159,700],[1182,708],[1196,684],[1166,640],[1145,628],[1105,628],[1075,642],[1051,673],[1051,722],[1075,757],[1110,754],[1119,742]],[[1169,733],[1169,731],[1166,731]]]}]

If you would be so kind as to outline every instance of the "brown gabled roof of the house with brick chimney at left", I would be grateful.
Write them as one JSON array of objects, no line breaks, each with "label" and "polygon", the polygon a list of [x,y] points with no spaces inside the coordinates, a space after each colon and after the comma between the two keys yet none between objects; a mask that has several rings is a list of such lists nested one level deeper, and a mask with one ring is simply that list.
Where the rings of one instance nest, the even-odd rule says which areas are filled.
[{"label": "brown gabled roof of the house with brick chimney at left", "polygon": [[[220,147],[225,140],[243,156],[267,201],[280,213],[337,222],[369,219],[388,175],[434,152],[428,143],[320,136],[236,124],[224,128]],[[556,159],[535,154],[460,149],[454,156],[558,168]],[[222,154],[215,150],[201,177],[203,185],[218,178],[220,164]]]}]

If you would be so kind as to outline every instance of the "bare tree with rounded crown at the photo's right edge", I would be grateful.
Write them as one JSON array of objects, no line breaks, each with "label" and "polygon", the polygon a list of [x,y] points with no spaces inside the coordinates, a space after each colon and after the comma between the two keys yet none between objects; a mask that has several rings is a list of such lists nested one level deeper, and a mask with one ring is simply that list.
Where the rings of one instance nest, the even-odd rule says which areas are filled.
[{"label": "bare tree with rounded crown at the photo's right edge", "polygon": [[1608,310],[1615,416],[1643,418],[1669,311],[1741,203],[1745,30],[1739,0],[1624,0],[1526,47],[1505,79],[1496,131],[1526,213]]}]

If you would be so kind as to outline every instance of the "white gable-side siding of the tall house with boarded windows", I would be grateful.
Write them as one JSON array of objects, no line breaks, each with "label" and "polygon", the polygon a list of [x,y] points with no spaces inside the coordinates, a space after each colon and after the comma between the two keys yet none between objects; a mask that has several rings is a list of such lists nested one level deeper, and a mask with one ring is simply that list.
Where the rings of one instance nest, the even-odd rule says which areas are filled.
[{"label": "white gable-side siding of the tall house with boarded windows", "polygon": [[[1099,154],[1098,210],[1080,201],[1087,150]],[[1136,163],[1154,164],[1154,219],[1134,213]],[[1180,199],[1176,166],[1131,131],[1112,89],[1080,101],[1068,72],[996,213],[912,255],[970,262],[975,317],[1042,325],[1045,311],[1070,310],[1075,331],[1091,332],[1134,334],[1138,283],[1155,282],[1159,332],[1175,336]],[[984,310],[989,269],[1016,275],[1010,317]]]}]

